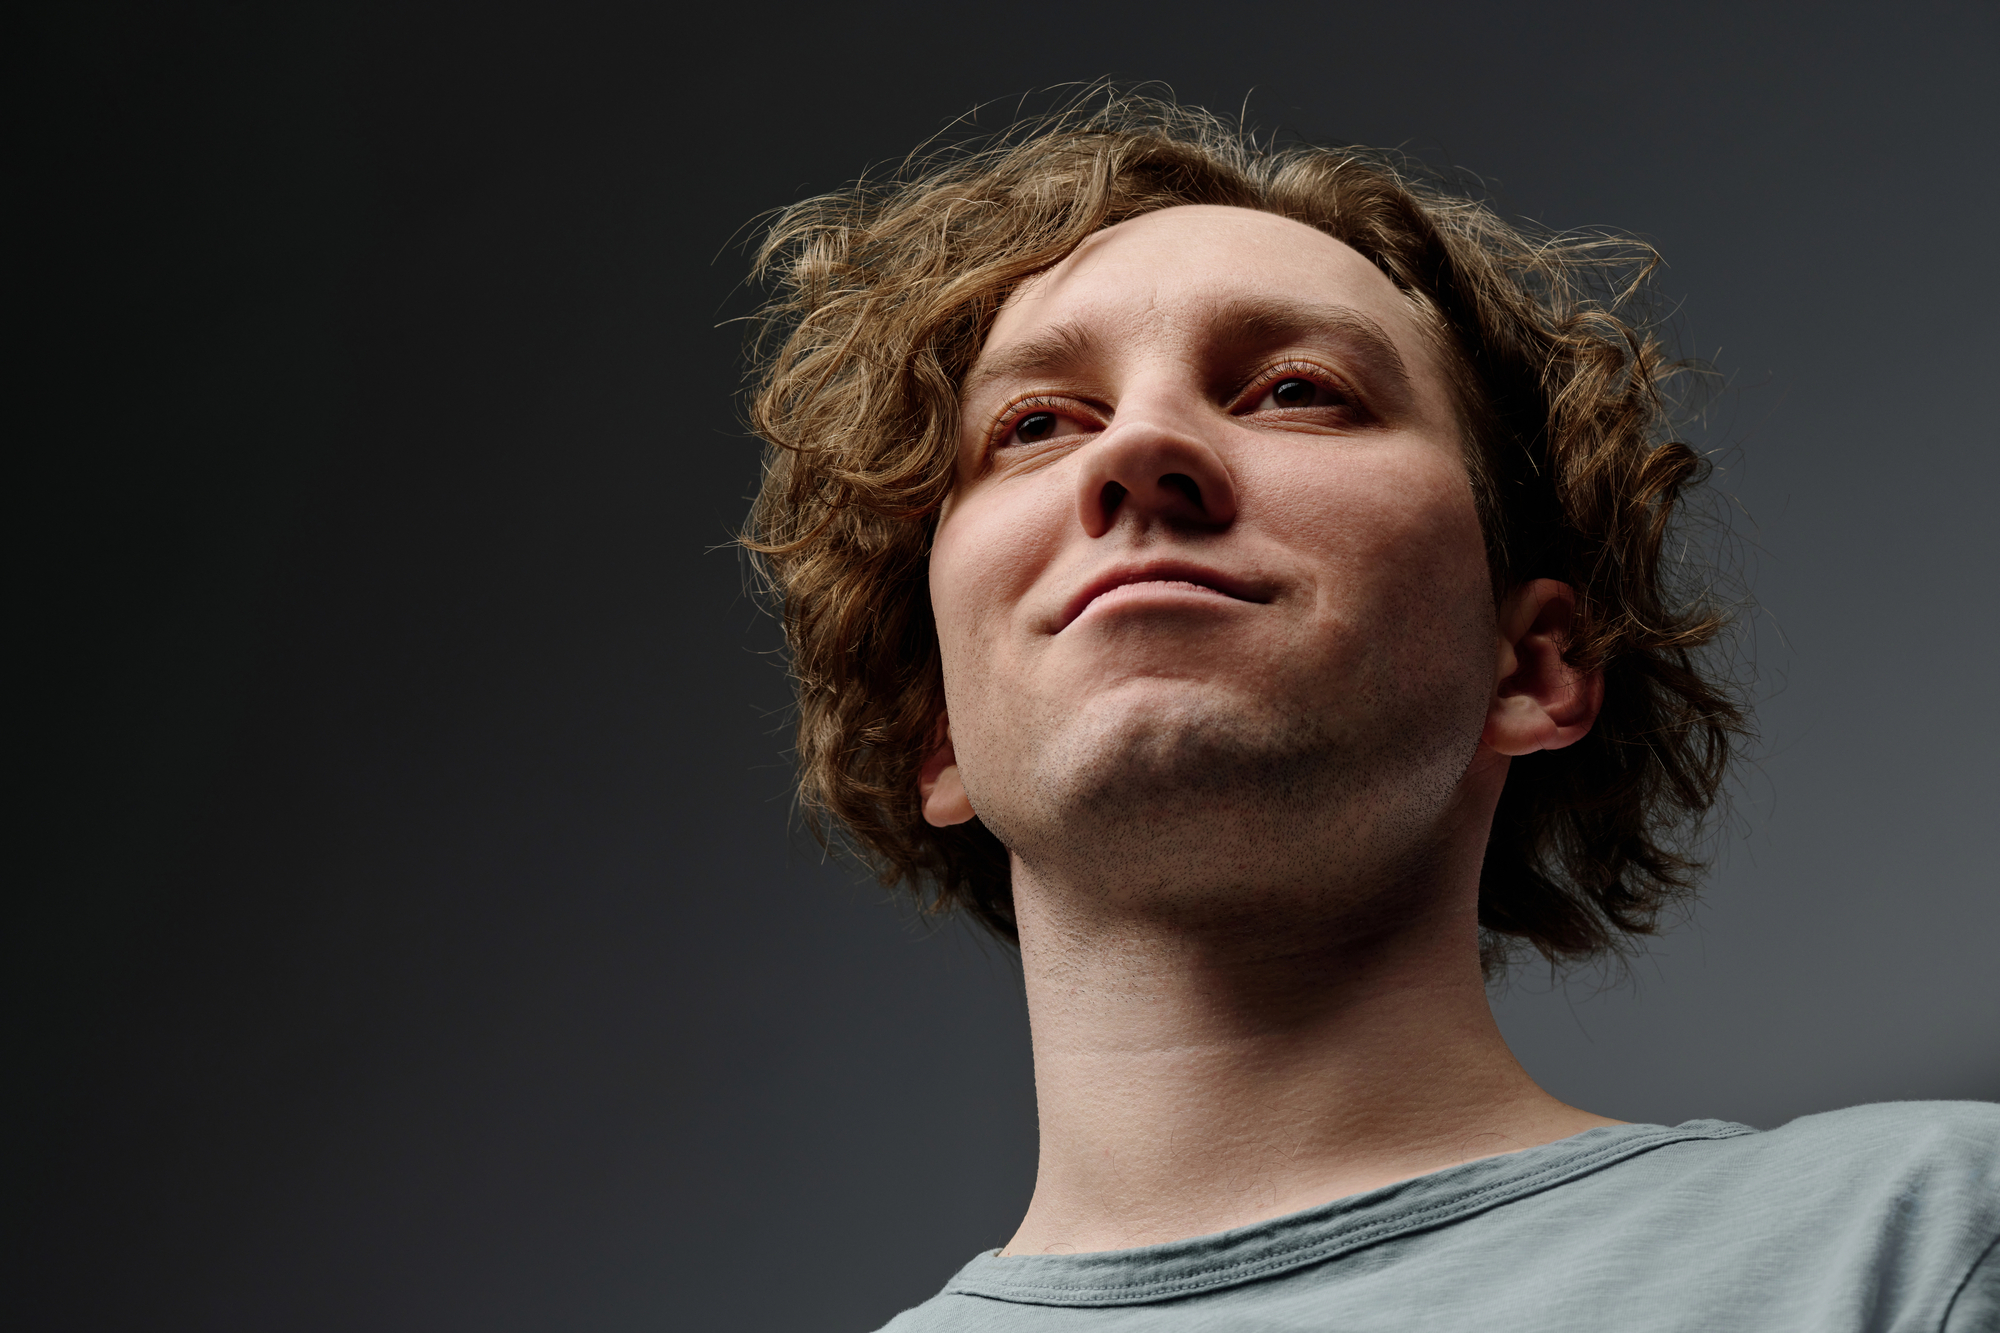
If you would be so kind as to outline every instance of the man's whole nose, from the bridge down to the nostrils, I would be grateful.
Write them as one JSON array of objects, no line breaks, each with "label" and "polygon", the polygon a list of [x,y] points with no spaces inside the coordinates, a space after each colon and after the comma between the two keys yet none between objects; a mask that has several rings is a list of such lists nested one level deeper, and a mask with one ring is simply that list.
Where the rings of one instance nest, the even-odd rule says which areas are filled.
[{"label": "man's whole nose, from the bridge down to the nostrils", "polygon": [[1120,398],[1084,456],[1078,520],[1090,536],[1120,522],[1224,528],[1236,486],[1210,432],[1214,410],[1176,376],[1146,376]]}]

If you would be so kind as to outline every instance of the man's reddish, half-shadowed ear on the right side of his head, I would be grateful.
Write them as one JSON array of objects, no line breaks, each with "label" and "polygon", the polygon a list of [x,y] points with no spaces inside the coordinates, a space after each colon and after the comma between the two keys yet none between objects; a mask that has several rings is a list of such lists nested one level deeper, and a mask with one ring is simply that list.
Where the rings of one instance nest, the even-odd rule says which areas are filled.
[{"label": "man's reddish, half-shadowed ear on the right side of his head", "polygon": [[1536,578],[1500,602],[1500,660],[1480,743],[1502,755],[1560,751],[1582,741],[1604,707],[1604,673],[1562,660],[1576,592]]}]

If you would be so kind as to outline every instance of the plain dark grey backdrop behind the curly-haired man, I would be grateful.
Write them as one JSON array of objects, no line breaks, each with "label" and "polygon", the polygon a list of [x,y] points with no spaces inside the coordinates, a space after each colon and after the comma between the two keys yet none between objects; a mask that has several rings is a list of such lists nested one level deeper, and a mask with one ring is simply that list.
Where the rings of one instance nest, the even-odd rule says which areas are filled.
[{"label": "plain dark grey backdrop behind the curly-haired man", "polygon": [[[1666,252],[1764,741],[1558,1095],[2000,1097],[1990,4],[90,4],[14,54],[34,1329],[866,1329],[1032,1183],[1012,965],[788,837],[760,210],[1096,76]],[[1010,102],[982,124],[1006,120]]]}]

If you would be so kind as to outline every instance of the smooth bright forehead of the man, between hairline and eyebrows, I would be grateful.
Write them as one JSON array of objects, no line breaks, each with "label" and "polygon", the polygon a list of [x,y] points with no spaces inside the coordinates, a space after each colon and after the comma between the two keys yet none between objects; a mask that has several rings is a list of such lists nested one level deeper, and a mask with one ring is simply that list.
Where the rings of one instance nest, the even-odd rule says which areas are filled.
[{"label": "smooth bright forehead of the man, between hairline and eyebrows", "polygon": [[1110,226],[1024,282],[994,318],[986,352],[1050,324],[1126,338],[1196,334],[1242,304],[1340,306],[1372,318],[1410,364],[1428,362],[1410,302],[1352,246],[1254,208],[1182,204]]}]

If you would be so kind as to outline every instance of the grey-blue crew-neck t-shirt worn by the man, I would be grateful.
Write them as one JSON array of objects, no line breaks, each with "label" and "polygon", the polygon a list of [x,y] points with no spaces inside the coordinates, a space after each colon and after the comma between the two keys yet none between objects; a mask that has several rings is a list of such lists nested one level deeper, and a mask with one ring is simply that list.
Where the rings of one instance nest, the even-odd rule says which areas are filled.
[{"label": "grey-blue crew-neck t-shirt worn by the man", "polygon": [[2000,1107],[1616,1125],[1168,1245],[980,1255],[882,1333],[2000,1333]]}]

